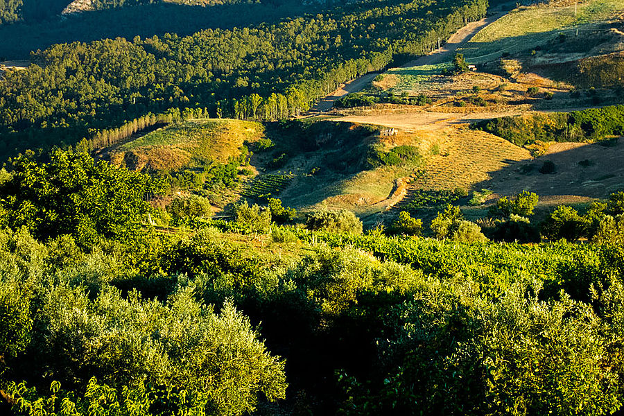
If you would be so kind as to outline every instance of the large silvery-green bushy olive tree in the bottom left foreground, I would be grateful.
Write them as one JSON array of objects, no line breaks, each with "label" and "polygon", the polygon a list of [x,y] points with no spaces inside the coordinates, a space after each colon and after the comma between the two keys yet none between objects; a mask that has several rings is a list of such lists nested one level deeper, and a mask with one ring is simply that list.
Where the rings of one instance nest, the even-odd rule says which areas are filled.
[{"label": "large silvery-green bushy olive tree in the bottom left foreground", "polygon": [[[108,409],[115,390],[136,398],[144,397],[148,386],[150,399],[163,407],[151,408],[147,394],[141,401],[155,415],[177,413],[175,396],[181,390],[188,404],[200,398],[196,415],[205,415],[207,409],[211,415],[243,415],[254,410],[259,396],[274,401],[285,395],[284,363],[268,354],[249,320],[231,303],[214,313],[194,299],[191,288],[162,304],[142,300],[137,292],[123,298],[114,288],[89,300],[80,288],[59,286],[44,293],[37,313],[40,329],[30,358],[49,364],[37,372],[87,392],[92,392],[97,375],[113,393],[107,399],[97,395],[90,401],[95,408],[68,397],[84,406],[83,414],[98,409],[98,414],[118,415]],[[34,390],[21,389],[19,394],[37,399]],[[179,404],[181,411],[184,402]]]}]

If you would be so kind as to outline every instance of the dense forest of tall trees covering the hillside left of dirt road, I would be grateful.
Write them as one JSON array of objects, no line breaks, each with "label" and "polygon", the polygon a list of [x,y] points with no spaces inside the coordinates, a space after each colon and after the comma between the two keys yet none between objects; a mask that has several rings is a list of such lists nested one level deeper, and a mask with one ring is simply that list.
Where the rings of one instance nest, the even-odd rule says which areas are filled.
[{"label": "dense forest of tall trees covering the hillside left of dirt road", "polygon": [[486,7],[370,1],[256,28],[51,46],[0,83],[1,152],[75,144],[171,108],[293,116],[345,80],[433,49]]}]

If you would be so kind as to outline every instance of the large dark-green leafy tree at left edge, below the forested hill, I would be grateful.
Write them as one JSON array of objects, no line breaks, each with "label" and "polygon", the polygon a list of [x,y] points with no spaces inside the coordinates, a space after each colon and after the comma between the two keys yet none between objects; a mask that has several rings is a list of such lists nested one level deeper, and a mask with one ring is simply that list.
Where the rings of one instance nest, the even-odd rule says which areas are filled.
[{"label": "large dark-green leafy tree at left edge, below the forested hill", "polygon": [[55,151],[44,164],[20,157],[12,168],[0,187],[4,223],[39,239],[71,234],[83,247],[140,232],[150,212],[145,197],[161,189],[146,175],[85,153]]}]

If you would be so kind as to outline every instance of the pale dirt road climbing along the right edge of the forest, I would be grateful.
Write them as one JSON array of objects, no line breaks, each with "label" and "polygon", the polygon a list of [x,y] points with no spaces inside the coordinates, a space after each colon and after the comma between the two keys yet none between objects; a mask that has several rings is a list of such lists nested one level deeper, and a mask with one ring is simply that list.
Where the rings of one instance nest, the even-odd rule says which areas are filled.
[{"label": "pale dirt road climbing along the right edge of the forest", "polygon": [[[428,64],[437,64],[440,62],[444,62],[446,60],[451,59],[451,53],[456,51],[462,44],[465,44],[469,40],[474,37],[485,26],[491,24],[496,19],[499,19],[506,12],[497,12],[495,15],[490,17],[486,17],[485,19],[480,19],[479,21],[474,21],[472,23],[467,24],[466,26],[460,28],[459,31],[453,33],[447,43],[444,44],[440,49],[436,49],[435,51],[429,53],[428,55],[424,55],[417,60],[413,60],[412,62],[408,62],[404,64],[404,68],[415,67],[417,65],[428,65]],[[316,114],[320,112],[326,112],[333,106],[333,102],[338,98],[342,98],[347,94],[351,94],[353,92],[360,92],[366,85],[368,85],[378,74],[377,73],[367,73],[364,76],[359,78],[355,78],[354,80],[350,80],[349,82],[340,86],[340,88],[336,89],[336,91],[331,94],[325,96],[318,103],[313,105],[310,109],[309,113]]]}]

